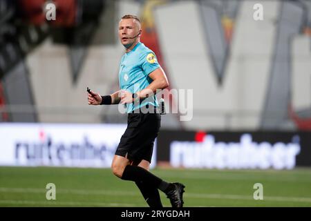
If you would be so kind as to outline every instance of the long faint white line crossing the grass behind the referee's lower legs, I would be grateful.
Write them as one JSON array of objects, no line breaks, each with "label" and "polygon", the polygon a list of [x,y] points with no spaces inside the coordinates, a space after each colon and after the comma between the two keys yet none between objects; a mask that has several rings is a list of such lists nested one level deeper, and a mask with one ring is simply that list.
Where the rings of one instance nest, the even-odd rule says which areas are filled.
[{"label": "long faint white line crossing the grass behind the referee's lower legs", "polygon": [[[0,187],[0,192],[7,193],[46,193],[46,189],[35,188],[6,188]],[[82,189],[57,189],[57,193],[77,194],[77,195],[140,195],[133,191],[85,191]],[[202,199],[227,199],[227,200],[254,200],[252,195],[228,195],[228,194],[205,194],[205,193],[185,193],[185,198]],[[311,202],[311,198],[283,197],[283,196],[263,196],[263,200],[280,202]]]}]

